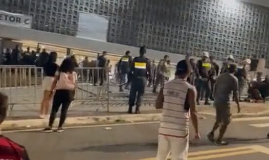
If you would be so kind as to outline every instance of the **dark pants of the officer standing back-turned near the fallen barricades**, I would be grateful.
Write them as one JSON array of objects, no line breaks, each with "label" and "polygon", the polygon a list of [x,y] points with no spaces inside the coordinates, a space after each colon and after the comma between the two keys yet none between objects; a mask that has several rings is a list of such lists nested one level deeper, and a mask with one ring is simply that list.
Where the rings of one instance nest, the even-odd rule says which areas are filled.
[{"label": "dark pants of the officer standing back-turned near the fallen barricades", "polygon": [[[147,83],[146,77],[136,77],[132,79],[131,90],[129,96],[129,106],[133,107],[136,99],[136,107],[140,107],[142,103],[142,98],[145,92],[145,87]],[[137,97],[136,97],[137,94]]]}]

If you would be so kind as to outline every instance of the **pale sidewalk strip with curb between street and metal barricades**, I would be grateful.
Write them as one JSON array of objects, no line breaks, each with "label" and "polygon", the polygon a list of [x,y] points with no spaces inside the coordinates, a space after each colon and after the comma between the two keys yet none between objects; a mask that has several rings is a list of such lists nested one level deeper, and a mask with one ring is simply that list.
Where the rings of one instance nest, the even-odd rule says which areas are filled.
[{"label": "pale sidewalk strip with curb between street and metal barricades", "polygon": [[[94,106],[91,106],[94,107]],[[65,126],[83,126],[126,122],[159,121],[161,110],[154,106],[142,106],[142,114],[127,114],[127,106],[118,106],[111,109],[110,113],[89,111],[86,104],[74,106],[70,109]],[[215,116],[215,109],[211,106],[198,106],[201,118]],[[32,115],[26,115],[32,112]],[[237,114],[236,104],[232,103],[231,113],[233,118],[269,116],[269,103],[241,103],[241,113]],[[2,130],[35,129],[43,128],[48,123],[47,119],[38,119],[38,111],[27,111],[22,116],[10,116],[1,125]],[[59,119],[56,119],[55,125]]]}]

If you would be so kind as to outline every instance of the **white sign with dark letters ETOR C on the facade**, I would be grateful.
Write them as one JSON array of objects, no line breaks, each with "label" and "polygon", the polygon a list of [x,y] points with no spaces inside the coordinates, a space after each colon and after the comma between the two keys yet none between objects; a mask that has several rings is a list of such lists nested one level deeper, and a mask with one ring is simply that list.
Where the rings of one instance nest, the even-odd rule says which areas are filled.
[{"label": "white sign with dark letters ETOR C on the facade", "polygon": [[32,17],[0,10],[0,24],[31,28]]}]

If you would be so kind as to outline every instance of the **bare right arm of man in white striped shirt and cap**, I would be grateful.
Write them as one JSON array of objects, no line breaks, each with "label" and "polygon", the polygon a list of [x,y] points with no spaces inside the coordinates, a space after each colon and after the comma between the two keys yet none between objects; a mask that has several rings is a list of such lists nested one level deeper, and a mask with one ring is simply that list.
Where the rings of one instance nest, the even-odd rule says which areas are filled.
[{"label": "bare right arm of man in white striped shirt and cap", "polygon": [[197,92],[195,88],[191,88],[187,92],[188,94],[188,103],[190,106],[190,113],[191,113],[191,119],[192,119],[192,125],[195,129],[195,137],[200,138],[199,134],[199,127],[198,127],[198,112],[196,110],[196,96]]}]

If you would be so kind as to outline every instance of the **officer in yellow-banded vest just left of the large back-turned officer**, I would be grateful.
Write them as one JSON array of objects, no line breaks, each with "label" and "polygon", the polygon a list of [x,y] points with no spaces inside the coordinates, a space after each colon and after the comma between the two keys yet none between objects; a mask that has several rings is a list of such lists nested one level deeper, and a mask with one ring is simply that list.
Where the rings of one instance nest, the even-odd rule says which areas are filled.
[{"label": "officer in yellow-banded vest just left of the large back-turned officer", "polygon": [[[133,58],[130,55],[129,50],[119,60],[119,63],[118,63],[118,72],[120,76],[119,91],[123,91],[122,86],[124,84],[126,84],[125,89],[127,89],[130,84],[130,67],[131,67],[132,61],[133,61]],[[127,83],[126,83],[126,76],[128,77]]]}]

